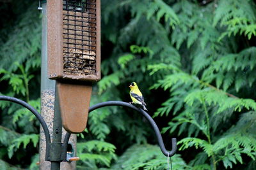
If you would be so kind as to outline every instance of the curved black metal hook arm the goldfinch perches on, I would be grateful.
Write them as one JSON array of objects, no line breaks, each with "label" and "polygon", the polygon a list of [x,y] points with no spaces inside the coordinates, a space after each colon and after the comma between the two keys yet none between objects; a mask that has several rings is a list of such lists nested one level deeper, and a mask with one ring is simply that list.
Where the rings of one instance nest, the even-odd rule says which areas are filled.
[{"label": "curved black metal hook arm the goldfinch perches on", "polygon": [[[177,139],[176,138],[172,138],[172,150],[170,150],[170,151],[166,150],[166,148],[164,146],[164,143],[163,143],[163,138],[161,136],[159,128],[156,125],[156,122],[154,122],[153,118],[150,117],[150,115],[148,115],[148,113],[146,111],[141,110],[139,108],[136,108],[132,104],[129,104],[129,103],[126,103],[126,102],[122,102],[122,101],[107,101],[107,102],[102,102],[102,103],[95,104],[94,106],[91,106],[89,108],[89,112],[91,112],[93,110],[97,110],[97,109],[102,108],[102,107],[106,107],[106,106],[125,106],[127,108],[131,108],[133,110],[136,110],[136,111],[140,112],[145,118],[147,118],[148,122],[150,123],[150,125],[154,129],[154,131],[156,133],[158,144],[159,144],[163,154],[166,157],[168,155],[169,155],[169,157],[172,157],[176,153],[176,151],[177,151]],[[68,135],[70,136],[70,134],[68,134],[68,133],[65,136],[64,145],[66,145],[68,143],[68,139],[69,139]]]}]

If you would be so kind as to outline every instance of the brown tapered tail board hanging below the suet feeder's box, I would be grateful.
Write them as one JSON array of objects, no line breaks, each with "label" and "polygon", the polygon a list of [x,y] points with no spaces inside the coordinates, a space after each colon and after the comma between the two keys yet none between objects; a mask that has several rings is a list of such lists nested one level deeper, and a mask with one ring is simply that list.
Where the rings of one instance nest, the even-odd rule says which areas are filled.
[{"label": "brown tapered tail board hanging below the suet feeder's box", "polygon": [[79,133],[86,128],[92,85],[57,81],[63,127]]}]

